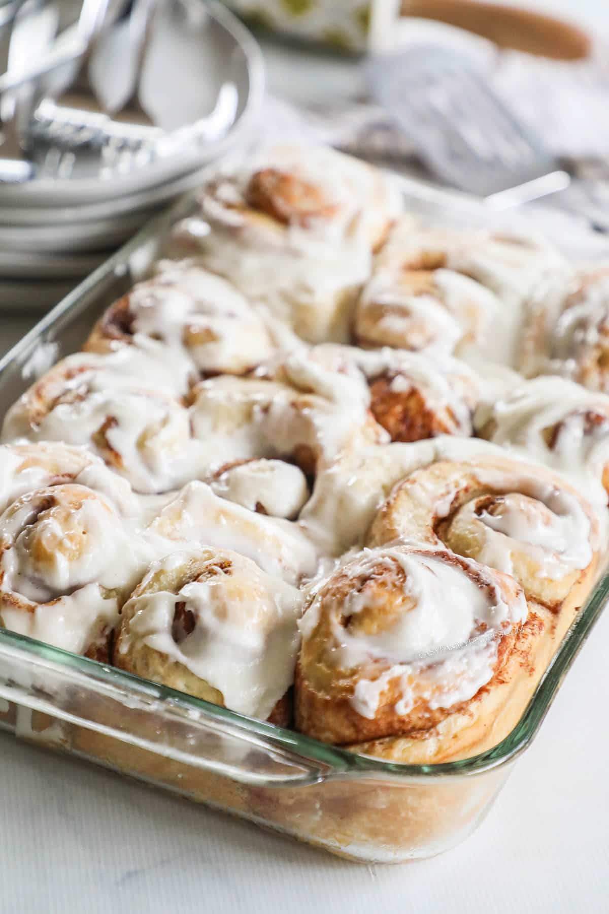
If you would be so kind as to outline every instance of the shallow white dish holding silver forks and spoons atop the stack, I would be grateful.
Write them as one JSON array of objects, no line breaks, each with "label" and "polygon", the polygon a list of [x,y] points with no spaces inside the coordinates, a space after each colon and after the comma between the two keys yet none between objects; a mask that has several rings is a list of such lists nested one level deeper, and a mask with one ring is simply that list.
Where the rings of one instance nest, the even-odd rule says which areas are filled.
[{"label": "shallow white dish holding silver forks and spoons atop the stack", "polygon": [[[189,126],[168,133],[172,142],[165,143],[166,154],[152,161],[145,154],[111,156],[109,147],[75,148],[62,160],[56,150],[49,155],[48,148],[39,149],[37,141],[37,176],[0,186],[2,222],[18,224],[15,212],[6,207],[80,207],[103,201],[110,216],[110,201],[116,200],[116,211],[125,211],[122,197],[177,181],[224,154],[255,116],[263,89],[260,49],[232,13],[214,0],[167,0],[153,21],[139,94],[147,112],[163,123],[171,121],[173,109],[178,112],[175,124],[186,119]],[[63,176],[68,166],[69,175]]]}]

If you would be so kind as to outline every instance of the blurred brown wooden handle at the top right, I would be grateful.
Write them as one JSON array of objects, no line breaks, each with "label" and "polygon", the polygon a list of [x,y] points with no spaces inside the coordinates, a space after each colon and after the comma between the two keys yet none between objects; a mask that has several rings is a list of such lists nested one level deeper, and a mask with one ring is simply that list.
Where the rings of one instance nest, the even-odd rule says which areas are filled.
[{"label": "blurred brown wooden handle at the top right", "polygon": [[401,10],[402,16],[421,16],[465,28],[489,38],[499,48],[562,60],[590,55],[591,40],[583,29],[514,6],[478,0],[401,0]]}]

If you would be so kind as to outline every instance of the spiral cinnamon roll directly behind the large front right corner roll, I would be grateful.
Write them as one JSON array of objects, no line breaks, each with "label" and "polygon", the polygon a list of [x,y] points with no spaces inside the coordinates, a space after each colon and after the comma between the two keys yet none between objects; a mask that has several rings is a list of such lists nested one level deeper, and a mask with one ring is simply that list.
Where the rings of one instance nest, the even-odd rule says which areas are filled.
[{"label": "spiral cinnamon roll directly behind the large front right corner roll", "polygon": [[395,485],[367,544],[404,538],[504,571],[555,612],[580,605],[601,545],[592,508],[562,477],[490,455],[436,462]]}]

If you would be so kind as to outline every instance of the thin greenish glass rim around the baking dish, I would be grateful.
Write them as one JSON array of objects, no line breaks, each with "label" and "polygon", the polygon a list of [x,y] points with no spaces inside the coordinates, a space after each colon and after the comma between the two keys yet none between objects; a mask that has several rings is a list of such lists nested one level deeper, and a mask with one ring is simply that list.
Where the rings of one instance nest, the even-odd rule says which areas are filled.
[{"label": "thin greenish glass rim around the baking dish", "polygon": [[[209,166],[210,173],[216,165]],[[452,210],[457,218],[481,218],[482,207],[476,197],[451,190],[437,189],[433,186],[419,182],[415,179],[404,178],[398,175],[403,186],[404,197],[410,195],[419,204],[429,205],[432,209],[446,207]],[[83,302],[86,302],[89,293],[94,292],[97,285],[111,274],[121,274],[129,263],[131,254],[139,250],[142,245],[155,237],[155,232],[163,230],[178,218],[187,216],[192,211],[193,193],[188,192],[180,197],[172,207],[165,209],[149,222],[126,244],[105,260],[104,263],[86,277],[76,288],[60,301],[51,311],[44,315],[37,324],[14,345],[2,358],[0,358],[0,382],[5,368],[24,356],[30,346],[36,342],[45,342],[47,332],[52,332],[56,325],[61,324],[61,319],[76,314]],[[492,219],[496,214],[487,212],[482,218]],[[518,217],[517,217],[518,219]],[[52,338],[52,337],[51,337]],[[214,705],[203,699],[195,698],[184,692],[178,692],[168,686],[143,679],[141,676],[131,675],[117,667],[100,664],[95,660],[79,654],[72,654],[60,648],[53,647],[44,642],[36,641],[25,635],[0,629],[0,644],[9,649],[15,647],[18,653],[30,654],[32,657],[44,660],[46,664],[53,664],[58,672],[62,668],[75,670],[87,678],[101,681],[109,685],[120,685],[121,688],[139,698],[150,699],[153,696],[156,702],[166,702],[173,707],[182,707],[186,712],[196,712],[196,717],[215,719],[220,723],[231,725],[238,733],[242,731],[256,735],[259,739],[267,739],[269,748],[288,750],[291,754],[298,754],[302,760],[320,763],[327,771],[323,780],[334,777],[370,776],[377,778],[390,778],[394,780],[434,781],[452,779],[455,777],[468,777],[482,774],[499,766],[515,760],[531,740],[535,737],[541,723],[551,707],[562,683],[562,679],[571,669],[572,663],[583,647],[593,625],[600,618],[605,604],[609,601],[609,569],[604,569],[603,574],[596,582],[593,590],[588,595],[583,607],[578,611],[568,632],[565,634],[558,650],[551,658],[551,663],[541,676],[529,703],[520,716],[519,722],[502,739],[497,746],[467,759],[438,762],[432,764],[405,764],[402,762],[386,761],[373,756],[355,753],[349,749],[332,746],[299,733],[297,730],[280,728],[253,717],[246,717],[231,711],[226,707]],[[15,699],[12,699],[15,700]],[[19,702],[16,702],[19,704]],[[26,704],[26,702],[22,702]],[[86,726],[83,721],[82,726]],[[275,781],[275,786],[279,786]]]}]

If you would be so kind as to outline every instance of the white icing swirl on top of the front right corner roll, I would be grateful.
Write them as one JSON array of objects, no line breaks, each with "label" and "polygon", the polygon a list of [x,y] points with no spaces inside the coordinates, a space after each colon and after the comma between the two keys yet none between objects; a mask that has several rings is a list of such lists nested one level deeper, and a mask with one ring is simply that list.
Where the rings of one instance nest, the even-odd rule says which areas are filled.
[{"label": "white icing swirl on top of the front right corner roll", "polygon": [[[332,616],[331,663],[343,670],[370,669],[371,664],[382,668],[379,677],[359,679],[352,706],[372,719],[383,691],[396,678],[401,691],[395,707],[398,714],[408,713],[415,699],[425,699],[433,709],[476,695],[493,675],[499,636],[527,618],[523,593],[517,591],[509,602],[499,586],[487,583],[492,578],[485,576],[485,585],[478,586],[468,576],[465,569],[476,574],[476,563],[464,562],[464,568],[447,562],[441,553],[401,548],[365,550],[341,572],[373,579],[383,566],[388,572],[396,566],[404,572],[403,594],[410,604],[393,625],[368,634],[352,633],[352,626],[341,623],[344,617],[370,607],[373,597],[365,587],[349,593],[340,614]],[[300,623],[304,639],[310,637],[323,599],[321,590]]]}]

